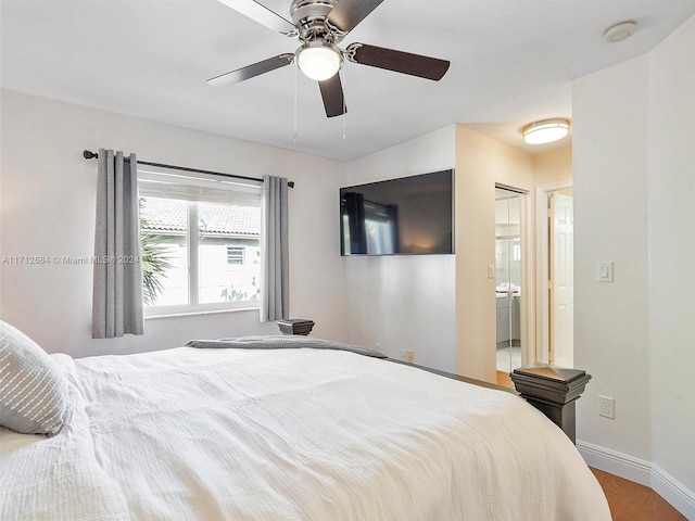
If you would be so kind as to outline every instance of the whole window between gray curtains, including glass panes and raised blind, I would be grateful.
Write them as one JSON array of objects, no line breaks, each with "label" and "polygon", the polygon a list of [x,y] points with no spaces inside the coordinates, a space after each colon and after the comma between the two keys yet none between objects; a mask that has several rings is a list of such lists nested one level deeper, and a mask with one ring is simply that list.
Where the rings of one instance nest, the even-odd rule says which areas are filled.
[{"label": "whole window between gray curtains, including glass panes and raised blind", "polygon": [[257,307],[261,187],[138,173],[146,315]]}]

